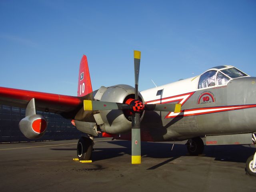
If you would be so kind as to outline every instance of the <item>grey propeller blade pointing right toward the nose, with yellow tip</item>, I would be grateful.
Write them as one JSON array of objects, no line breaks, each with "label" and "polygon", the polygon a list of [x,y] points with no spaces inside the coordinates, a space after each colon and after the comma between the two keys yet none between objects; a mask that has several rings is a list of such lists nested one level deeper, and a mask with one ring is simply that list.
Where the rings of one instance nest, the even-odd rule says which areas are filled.
[{"label": "grey propeller blade pointing right toward the nose, with yellow tip", "polygon": [[181,104],[145,104],[145,110],[148,111],[166,111],[180,113]]}]

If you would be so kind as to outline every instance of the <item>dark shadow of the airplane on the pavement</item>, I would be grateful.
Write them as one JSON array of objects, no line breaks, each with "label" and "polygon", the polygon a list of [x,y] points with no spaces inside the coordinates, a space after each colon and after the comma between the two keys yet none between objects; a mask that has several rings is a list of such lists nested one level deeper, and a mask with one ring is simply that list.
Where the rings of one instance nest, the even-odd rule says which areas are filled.
[{"label": "dark shadow of the airplane on the pavement", "polygon": [[[99,161],[104,159],[115,158],[123,156],[124,154],[131,155],[131,141],[115,140],[114,142],[107,142],[109,144],[117,145],[111,148],[100,148],[97,144],[92,153],[92,160]],[[173,142],[141,142],[141,156],[143,158],[169,158],[162,163],[157,164],[149,169],[155,169],[181,156],[190,156],[187,152],[185,144],[175,144],[172,149]],[[121,146],[121,148],[119,147]],[[51,150],[74,150],[76,148],[51,148]],[[219,145],[219,146],[204,146],[203,157],[211,157],[217,161],[227,162],[242,162],[245,163],[247,158],[255,153],[256,148],[250,145]]]}]

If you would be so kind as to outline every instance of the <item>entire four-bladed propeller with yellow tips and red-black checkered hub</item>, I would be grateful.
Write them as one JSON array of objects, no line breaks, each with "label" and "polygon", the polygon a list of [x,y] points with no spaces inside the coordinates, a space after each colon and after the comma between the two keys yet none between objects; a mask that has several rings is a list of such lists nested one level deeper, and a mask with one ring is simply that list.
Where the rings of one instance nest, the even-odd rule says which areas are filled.
[{"label": "entire four-bladed propeller with yellow tips and red-black checkered hub", "polygon": [[144,104],[139,100],[139,74],[140,74],[140,51],[134,51],[134,78],[135,78],[135,96],[126,103],[104,102],[84,100],[84,110],[130,110],[132,111],[132,164],[141,163],[140,150],[140,113],[143,110],[180,112],[181,104]]}]

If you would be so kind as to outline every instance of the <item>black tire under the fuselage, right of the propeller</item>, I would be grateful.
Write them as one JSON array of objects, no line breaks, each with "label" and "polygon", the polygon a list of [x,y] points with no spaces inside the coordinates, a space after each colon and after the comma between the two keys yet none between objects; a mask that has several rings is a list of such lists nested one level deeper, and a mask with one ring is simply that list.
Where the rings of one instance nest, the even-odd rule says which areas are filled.
[{"label": "black tire under the fuselage, right of the propeller", "polygon": [[204,151],[204,142],[200,137],[191,138],[187,142],[187,149],[190,155],[200,155]]}]

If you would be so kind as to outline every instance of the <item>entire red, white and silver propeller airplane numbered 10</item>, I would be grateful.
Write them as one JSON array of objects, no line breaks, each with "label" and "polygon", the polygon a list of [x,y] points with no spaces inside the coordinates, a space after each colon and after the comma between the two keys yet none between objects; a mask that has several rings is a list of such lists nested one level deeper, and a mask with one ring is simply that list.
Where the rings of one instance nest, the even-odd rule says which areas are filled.
[{"label": "entire red, white and silver propeller airplane numbered 10", "polygon": [[[140,51],[134,51],[135,87],[118,84],[92,90],[87,57],[80,62],[78,96],[0,87],[0,104],[26,108],[20,131],[27,138],[44,135],[46,119],[36,110],[72,120],[85,136],[78,140],[79,160],[90,160],[93,138],[131,140],[132,164],[141,163],[140,142],[183,141],[189,154],[206,145],[256,144],[256,77],[234,66],[210,68],[198,76],[138,91]],[[256,153],[246,161],[256,176]]]}]

